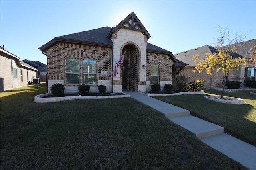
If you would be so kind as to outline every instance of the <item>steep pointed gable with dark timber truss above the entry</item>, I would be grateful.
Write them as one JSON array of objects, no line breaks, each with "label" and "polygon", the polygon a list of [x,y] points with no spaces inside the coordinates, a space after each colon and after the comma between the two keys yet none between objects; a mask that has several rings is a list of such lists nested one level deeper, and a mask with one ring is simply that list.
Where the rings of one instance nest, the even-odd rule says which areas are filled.
[{"label": "steep pointed gable with dark timber truss above the entry", "polygon": [[117,29],[124,28],[124,29],[130,29],[134,31],[140,31],[142,32],[148,39],[151,37],[146,28],[142,25],[138,17],[135,15],[134,12],[132,12],[130,15],[128,15],[124,20],[122,20],[116,27],[112,28],[108,38],[114,33]]}]

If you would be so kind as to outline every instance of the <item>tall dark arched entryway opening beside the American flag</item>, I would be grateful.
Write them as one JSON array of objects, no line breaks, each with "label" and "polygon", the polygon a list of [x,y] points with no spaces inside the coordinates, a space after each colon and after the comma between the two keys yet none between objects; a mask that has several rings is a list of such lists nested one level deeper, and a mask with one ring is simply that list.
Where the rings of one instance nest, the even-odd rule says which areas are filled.
[{"label": "tall dark arched entryway opening beside the American flag", "polygon": [[133,42],[124,45],[122,51],[126,51],[121,65],[122,90],[138,91],[140,81],[140,49]]}]

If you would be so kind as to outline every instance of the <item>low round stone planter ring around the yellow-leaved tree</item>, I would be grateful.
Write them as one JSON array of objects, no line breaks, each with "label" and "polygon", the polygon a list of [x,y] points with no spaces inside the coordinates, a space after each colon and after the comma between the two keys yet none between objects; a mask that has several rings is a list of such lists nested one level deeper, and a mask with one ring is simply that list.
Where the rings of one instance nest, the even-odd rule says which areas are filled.
[{"label": "low round stone planter ring around the yellow-leaved tree", "polygon": [[212,100],[214,102],[226,103],[226,104],[244,104],[244,99],[240,98],[233,98],[233,97],[226,97],[224,99],[220,99],[221,96],[204,96],[204,98],[208,100]]}]

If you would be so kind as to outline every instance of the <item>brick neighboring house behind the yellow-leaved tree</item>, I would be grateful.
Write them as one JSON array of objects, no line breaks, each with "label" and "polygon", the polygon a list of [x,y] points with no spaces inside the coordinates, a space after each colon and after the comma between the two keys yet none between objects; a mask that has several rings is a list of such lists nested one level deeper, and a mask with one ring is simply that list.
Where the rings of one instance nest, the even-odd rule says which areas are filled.
[{"label": "brick neighboring house behind the yellow-leaved tree", "polygon": [[[232,54],[233,58],[236,57],[250,57],[251,51],[253,47],[256,45],[256,39],[244,41],[237,45],[237,53]],[[207,53],[216,53],[217,51],[209,46],[204,45],[202,47],[198,47],[195,49],[191,49],[188,51],[183,51],[177,54],[174,54],[174,56],[182,60],[186,63],[188,63],[188,66],[185,66],[183,74],[189,78],[189,82],[194,80],[203,79],[204,80],[204,87],[205,88],[221,88],[222,87],[222,81],[223,81],[223,72],[219,71],[216,73],[216,69],[212,70],[212,75],[206,74],[206,71],[204,70],[200,74],[196,70],[195,66],[200,61],[200,59],[203,59]],[[193,61],[193,58],[196,56],[196,54],[199,55],[199,60],[196,61],[196,63]],[[196,70],[196,72],[193,72],[193,70]],[[246,68],[239,68],[237,70],[230,70],[228,74],[228,80],[230,81],[239,81],[242,82],[242,85],[247,80],[256,80],[255,74],[256,74],[256,67],[255,64],[247,63]]]}]

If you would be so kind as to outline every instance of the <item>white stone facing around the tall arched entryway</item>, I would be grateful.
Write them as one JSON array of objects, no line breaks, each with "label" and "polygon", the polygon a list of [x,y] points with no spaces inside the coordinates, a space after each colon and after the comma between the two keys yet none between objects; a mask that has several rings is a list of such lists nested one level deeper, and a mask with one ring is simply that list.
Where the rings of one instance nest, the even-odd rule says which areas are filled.
[{"label": "white stone facing around the tall arched entryway", "polygon": [[[120,56],[126,50],[124,60],[128,62],[127,88],[138,91],[140,81],[145,81],[146,71],[142,70],[142,65],[146,65],[147,39],[140,31],[130,29],[118,29],[112,36],[113,41],[113,66],[116,65]],[[132,67],[132,69],[131,69]],[[122,70],[113,78],[114,81],[122,81]],[[142,90],[142,88],[140,87]],[[143,91],[145,91],[145,87]],[[113,92],[122,92],[119,86],[113,86]]]}]

